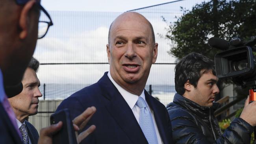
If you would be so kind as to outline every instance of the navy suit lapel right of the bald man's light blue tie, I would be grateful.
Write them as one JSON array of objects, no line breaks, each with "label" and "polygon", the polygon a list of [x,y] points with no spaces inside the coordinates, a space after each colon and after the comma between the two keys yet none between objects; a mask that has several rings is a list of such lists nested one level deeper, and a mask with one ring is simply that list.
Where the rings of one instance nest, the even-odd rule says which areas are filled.
[{"label": "navy suit lapel right of the bald man's light blue tie", "polygon": [[147,100],[148,105],[154,112],[154,118],[156,120],[158,131],[160,133],[163,144],[168,144],[169,140],[167,139],[167,137],[171,137],[171,136],[166,135],[166,127],[168,125],[166,125],[165,123],[166,120],[164,118],[166,118],[166,116],[165,116],[164,110],[160,109],[162,105],[157,103],[156,102],[157,100],[154,97],[150,96],[147,91],[145,91],[145,98]]}]

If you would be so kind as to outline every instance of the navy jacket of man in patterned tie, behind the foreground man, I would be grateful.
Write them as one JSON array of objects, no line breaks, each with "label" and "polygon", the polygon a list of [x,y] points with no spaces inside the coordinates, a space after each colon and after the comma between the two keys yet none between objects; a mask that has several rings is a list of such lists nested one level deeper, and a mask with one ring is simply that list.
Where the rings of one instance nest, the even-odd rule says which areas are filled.
[{"label": "navy jacket of man in patterned tie, behind the foreground man", "polygon": [[30,124],[30,122],[28,122],[27,120],[25,120],[25,123],[28,128],[28,136],[30,138],[31,143],[37,144],[39,138],[37,129],[35,129],[35,127],[32,124]]}]

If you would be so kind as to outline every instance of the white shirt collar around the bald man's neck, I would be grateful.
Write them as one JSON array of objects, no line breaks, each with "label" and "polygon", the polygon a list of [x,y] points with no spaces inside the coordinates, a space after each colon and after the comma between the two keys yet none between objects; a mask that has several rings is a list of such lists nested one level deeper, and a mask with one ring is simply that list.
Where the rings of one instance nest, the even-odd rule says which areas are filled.
[{"label": "white shirt collar around the bald man's neck", "polygon": [[[126,103],[128,103],[129,107],[132,109],[134,107],[134,105],[136,104],[139,96],[132,94],[130,92],[128,92],[127,90],[123,89],[120,85],[118,85],[114,79],[111,77],[110,72],[108,72],[108,78],[110,79],[110,81],[115,85],[115,87],[117,88],[117,90],[120,92],[120,94],[122,95],[122,97],[124,98],[124,100],[126,101]],[[141,93],[140,97],[142,97],[145,100],[145,93],[144,93],[144,89],[143,92]],[[145,100],[146,101],[146,100]]]}]

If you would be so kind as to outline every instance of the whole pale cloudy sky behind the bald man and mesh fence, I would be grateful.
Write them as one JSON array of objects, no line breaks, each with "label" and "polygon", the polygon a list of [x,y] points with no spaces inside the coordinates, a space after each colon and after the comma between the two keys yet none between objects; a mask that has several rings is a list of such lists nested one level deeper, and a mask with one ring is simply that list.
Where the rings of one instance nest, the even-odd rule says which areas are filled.
[{"label": "whole pale cloudy sky behind the bald man and mesh fence", "polygon": [[[174,0],[42,0],[54,26],[37,42],[34,57],[40,63],[107,63],[106,44],[111,22],[122,12]],[[169,23],[180,17],[180,6],[191,9],[204,0],[184,0],[162,7],[138,11],[152,23],[158,42],[156,63],[174,63],[167,53],[171,42],[159,37]],[[209,1],[209,0],[207,0]],[[109,65],[41,65],[37,73],[41,83],[92,84],[109,70]],[[174,85],[174,65],[153,65],[147,84]]]}]

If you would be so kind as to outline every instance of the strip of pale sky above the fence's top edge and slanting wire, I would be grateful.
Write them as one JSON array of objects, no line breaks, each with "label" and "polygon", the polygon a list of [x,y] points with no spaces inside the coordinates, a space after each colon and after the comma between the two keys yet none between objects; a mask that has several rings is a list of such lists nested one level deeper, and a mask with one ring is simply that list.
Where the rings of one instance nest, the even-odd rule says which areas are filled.
[{"label": "strip of pale sky above the fence's top edge and slanting wire", "polygon": [[50,11],[124,12],[173,1],[176,0],[42,0],[41,3]]}]

